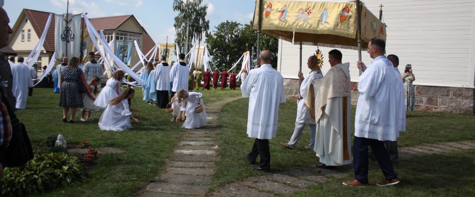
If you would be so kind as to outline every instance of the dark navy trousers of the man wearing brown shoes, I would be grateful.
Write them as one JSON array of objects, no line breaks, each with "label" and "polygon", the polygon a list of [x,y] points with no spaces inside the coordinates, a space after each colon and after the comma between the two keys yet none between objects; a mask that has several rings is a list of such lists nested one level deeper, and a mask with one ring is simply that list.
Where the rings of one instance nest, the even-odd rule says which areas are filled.
[{"label": "dark navy trousers of the man wearing brown shoes", "polygon": [[389,159],[384,141],[357,137],[353,140],[353,169],[355,178],[361,183],[368,183],[368,146],[373,150],[376,161],[383,171],[387,180],[392,180],[398,176],[394,172],[393,164]]}]

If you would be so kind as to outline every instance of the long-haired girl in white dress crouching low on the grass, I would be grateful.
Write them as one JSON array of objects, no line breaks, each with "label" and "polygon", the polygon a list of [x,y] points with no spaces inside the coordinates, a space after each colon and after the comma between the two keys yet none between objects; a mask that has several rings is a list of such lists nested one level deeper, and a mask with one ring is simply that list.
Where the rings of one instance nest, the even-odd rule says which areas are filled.
[{"label": "long-haired girl in white dress crouching low on the grass", "polygon": [[106,110],[104,110],[104,113],[102,113],[101,119],[99,119],[99,128],[106,131],[122,131],[132,128],[130,119],[140,123],[140,120],[132,116],[132,112],[136,110],[130,109],[134,95],[135,90],[129,87],[118,97],[114,98]]}]

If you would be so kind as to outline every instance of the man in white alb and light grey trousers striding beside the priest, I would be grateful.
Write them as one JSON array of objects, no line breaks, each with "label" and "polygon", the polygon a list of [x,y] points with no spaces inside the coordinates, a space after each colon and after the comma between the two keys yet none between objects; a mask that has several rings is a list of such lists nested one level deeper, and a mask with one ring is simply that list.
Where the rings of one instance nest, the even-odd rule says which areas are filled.
[{"label": "man in white alb and light grey trousers striding beside the priest", "polygon": [[309,75],[304,78],[302,72],[299,72],[299,80],[300,84],[300,91],[297,94],[297,118],[295,120],[295,128],[292,137],[290,138],[289,142],[284,143],[280,142],[280,145],[288,148],[288,149],[295,149],[295,145],[300,139],[302,132],[304,131],[304,127],[308,124],[308,128],[310,131],[310,141],[306,149],[313,151],[313,147],[315,145],[315,117],[312,119],[310,118],[310,113],[307,108],[304,106],[305,98],[307,97],[308,87],[310,83],[314,79],[322,78],[322,74],[320,72],[320,68],[318,66],[318,59],[317,56],[313,55],[308,58],[307,66],[311,70]]}]

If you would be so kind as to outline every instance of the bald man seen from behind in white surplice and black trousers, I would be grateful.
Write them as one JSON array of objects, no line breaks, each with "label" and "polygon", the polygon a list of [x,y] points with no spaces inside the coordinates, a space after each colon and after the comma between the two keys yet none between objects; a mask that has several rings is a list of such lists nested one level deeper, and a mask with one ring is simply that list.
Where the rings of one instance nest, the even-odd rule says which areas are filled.
[{"label": "bald man seen from behind in white surplice and black trousers", "polygon": [[254,145],[246,158],[249,164],[255,164],[260,156],[259,165],[253,168],[270,171],[269,139],[275,137],[279,104],[286,102],[283,90],[283,77],[272,68],[271,53],[267,50],[259,54],[261,67],[249,72],[248,78],[241,84],[243,97],[249,97],[247,134],[255,138]]}]

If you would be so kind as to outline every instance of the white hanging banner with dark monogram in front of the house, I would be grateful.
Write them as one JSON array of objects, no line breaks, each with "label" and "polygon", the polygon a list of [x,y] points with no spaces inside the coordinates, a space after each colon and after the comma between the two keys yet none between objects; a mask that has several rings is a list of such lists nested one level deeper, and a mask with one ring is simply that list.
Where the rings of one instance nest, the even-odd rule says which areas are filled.
[{"label": "white hanging banner with dark monogram in front of the house", "polygon": [[55,15],[56,59],[79,57],[81,44],[81,15]]}]

